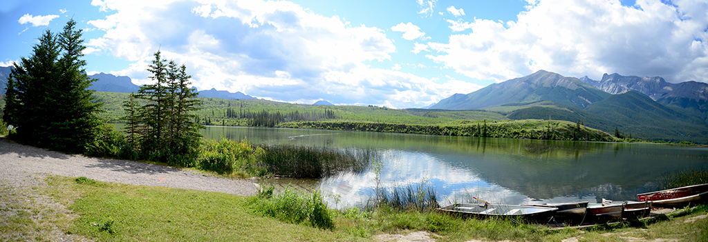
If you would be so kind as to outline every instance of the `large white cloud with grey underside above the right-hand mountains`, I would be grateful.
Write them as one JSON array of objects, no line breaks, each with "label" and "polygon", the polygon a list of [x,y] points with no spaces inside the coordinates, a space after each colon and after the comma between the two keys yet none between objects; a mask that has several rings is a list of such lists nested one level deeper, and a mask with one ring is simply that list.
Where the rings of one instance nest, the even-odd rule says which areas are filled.
[{"label": "large white cloud with grey underside above the right-hand mountains", "polygon": [[539,69],[600,78],[660,75],[708,82],[708,3],[639,0],[528,1],[515,22],[452,21],[448,43],[428,43],[428,58],[471,78],[508,80]]}]

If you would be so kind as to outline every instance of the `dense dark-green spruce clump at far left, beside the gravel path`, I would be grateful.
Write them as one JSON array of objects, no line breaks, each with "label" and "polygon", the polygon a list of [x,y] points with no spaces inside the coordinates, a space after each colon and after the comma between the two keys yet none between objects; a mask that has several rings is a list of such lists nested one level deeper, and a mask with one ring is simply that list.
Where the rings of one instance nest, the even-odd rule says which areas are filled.
[{"label": "dense dark-green spruce clump at far left, beside the gravel path", "polygon": [[4,119],[17,127],[21,143],[67,152],[84,152],[98,132],[101,104],[86,90],[81,30],[69,20],[59,35],[46,30],[28,58],[15,63],[8,80]]}]

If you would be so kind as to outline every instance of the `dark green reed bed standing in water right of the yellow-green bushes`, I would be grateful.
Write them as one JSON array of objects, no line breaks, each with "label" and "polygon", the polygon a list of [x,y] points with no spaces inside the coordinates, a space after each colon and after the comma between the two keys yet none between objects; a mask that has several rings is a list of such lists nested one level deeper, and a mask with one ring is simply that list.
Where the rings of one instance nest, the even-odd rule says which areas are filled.
[{"label": "dark green reed bed standing in water right of the yellow-green bushes", "polygon": [[259,160],[274,176],[320,179],[342,171],[362,173],[377,159],[375,150],[309,145],[261,145]]}]

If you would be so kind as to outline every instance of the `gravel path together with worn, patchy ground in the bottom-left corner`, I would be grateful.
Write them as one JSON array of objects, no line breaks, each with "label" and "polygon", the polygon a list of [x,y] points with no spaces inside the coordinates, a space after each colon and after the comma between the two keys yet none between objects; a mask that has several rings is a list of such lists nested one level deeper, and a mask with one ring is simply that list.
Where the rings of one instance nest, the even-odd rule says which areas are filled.
[{"label": "gravel path together with worn, patchy ground in the bottom-left corner", "polygon": [[[108,181],[144,186],[166,186],[236,195],[256,195],[257,186],[248,180],[222,179],[196,171],[120,159],[101,159],[65,155],[20,145],[0,136],[0,241],[92,241],[76,234],[65,234],[57,220],[76,217],[38,188],[47,186],[46,174],[86,176]],[[31,219],[32,223],[17,223]],[[15,221],[16,223],[12,223]],[[7,228],[7,225],[23,229]]]}]

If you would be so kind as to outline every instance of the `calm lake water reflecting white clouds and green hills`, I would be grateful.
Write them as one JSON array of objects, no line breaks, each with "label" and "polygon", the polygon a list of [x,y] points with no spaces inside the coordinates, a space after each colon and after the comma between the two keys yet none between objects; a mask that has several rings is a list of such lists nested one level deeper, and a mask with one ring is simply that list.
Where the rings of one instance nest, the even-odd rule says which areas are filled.
[{"label": "calm lake water reflecting white clouds and green hills", "polygon": [[[374,149],[381,154],[382,186],[425,182],[445,203],[473,196],[513,205],[636,200],[636,193],[653,190],[664,173],[708,169],[704,147],[222,126],[207,126],[202,135],[248,138],[253,144]],[[319,188],[331,207],[350,207],[367,200],[375,179],[371,170],[295,183]]]}]

